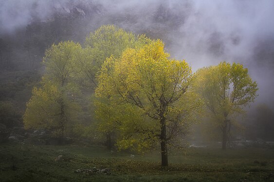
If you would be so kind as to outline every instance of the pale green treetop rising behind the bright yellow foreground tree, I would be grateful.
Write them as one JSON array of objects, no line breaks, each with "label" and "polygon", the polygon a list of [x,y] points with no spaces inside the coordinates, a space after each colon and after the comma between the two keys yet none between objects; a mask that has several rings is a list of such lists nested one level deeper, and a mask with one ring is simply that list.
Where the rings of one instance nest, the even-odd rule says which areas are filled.
[{"label": "pale green treetop rising behind the bright yellow foreground tree", "polygon": [[106,58],[113,55],[119,57],[123,50],[133,48],[135,35],[114,25],[103,25],[86,37],[85,49],[78,62],[80,82],[88,88],[97,85],[96,74],[101,69]]}]

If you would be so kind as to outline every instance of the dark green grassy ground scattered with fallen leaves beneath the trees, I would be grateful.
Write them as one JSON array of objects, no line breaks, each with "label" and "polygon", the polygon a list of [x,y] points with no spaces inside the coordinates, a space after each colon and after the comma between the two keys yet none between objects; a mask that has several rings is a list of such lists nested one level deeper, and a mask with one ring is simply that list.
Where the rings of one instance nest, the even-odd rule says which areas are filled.
[{"label": "dark green grassy ground scattered with fallen leaves beneath the trees", "polygon": [[[131,158],[98,146],[0,145],[0,182],[274,182],[274,149],[188,149],[169,164],[156,151]],[[93,167],[111,174],[74,172]]]}]

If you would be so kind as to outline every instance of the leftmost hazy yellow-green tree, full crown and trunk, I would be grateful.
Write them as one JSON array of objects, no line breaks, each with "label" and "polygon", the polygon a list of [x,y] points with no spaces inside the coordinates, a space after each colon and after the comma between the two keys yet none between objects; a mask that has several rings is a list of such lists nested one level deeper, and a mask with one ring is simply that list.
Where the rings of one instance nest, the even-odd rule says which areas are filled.
[{"label": "leftmost hazy yellow-green tree, full crown and trunk", "polygon": [[77,117],[80,107],[76,103],[77,87],[73,82],[73,63],[81,50],[79,44],[60,42],[46,51],[43,64],[46,73],[41,87],[33,89],[23,117],[25,128],[48,128],[53,134],[63,138],[69,132],[72,121]]}]

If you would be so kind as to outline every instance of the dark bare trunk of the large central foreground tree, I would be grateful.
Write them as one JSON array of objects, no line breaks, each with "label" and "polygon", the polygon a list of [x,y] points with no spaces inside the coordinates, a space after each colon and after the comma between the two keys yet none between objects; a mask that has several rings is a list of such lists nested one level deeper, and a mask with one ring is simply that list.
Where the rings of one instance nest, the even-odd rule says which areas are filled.
[{"label": "dark bare trunk of the large central foreground tree", "polygon": [[161,119],[161,154],[162,154],[162,166],[168,166],[167,160],[167,146],[166,146],[166,126],[165,126],[165,118]]}]

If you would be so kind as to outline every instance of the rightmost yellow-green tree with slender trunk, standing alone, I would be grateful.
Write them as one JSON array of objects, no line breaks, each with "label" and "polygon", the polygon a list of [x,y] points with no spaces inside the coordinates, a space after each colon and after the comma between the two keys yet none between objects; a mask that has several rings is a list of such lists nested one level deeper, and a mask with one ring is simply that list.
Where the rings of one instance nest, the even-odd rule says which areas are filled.
[{"label": "rightmost yellow-green tree with slender trunk, standing alone", "polygon": [[197,71],[197,91],[207,112],[222,132],[222,149],[226,149],[233,118],[244,112],[257,97],[257,83],[241,64],[222,62]]}]

